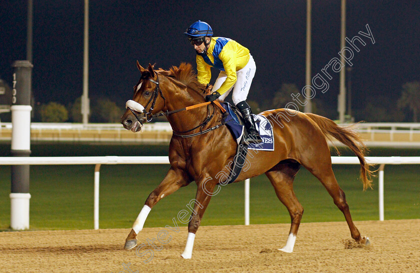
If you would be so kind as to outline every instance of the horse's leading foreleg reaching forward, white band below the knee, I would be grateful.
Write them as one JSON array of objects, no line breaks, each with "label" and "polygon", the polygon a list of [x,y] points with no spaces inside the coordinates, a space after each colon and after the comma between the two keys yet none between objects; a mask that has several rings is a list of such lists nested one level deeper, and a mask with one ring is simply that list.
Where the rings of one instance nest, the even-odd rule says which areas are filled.
[{"label": "horse's leading foreleg reaching forward, white band below the knee", "polygon": [[151,208],[164,196],[171,194],[189,183],[186,175],[179,169],[170,168],[165,178],[147,197],[143,208],[135,219],[132,229],[125,239],[124,249],[131,249],[137,245],[136,236],[143,229],[144,222]]}]

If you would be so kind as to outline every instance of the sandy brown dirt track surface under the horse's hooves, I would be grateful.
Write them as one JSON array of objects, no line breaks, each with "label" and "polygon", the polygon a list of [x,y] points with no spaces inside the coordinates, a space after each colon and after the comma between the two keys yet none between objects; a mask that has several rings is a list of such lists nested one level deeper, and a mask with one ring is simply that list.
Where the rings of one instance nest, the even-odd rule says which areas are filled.
[{"label": "sandy brown dirt track surface under the horse's hooves", "polygon": [[186,227],[144,228],[137,253],[154,249],[147,238],[162,246],[147,263],[150,252],[122,249],[130,229],[0,232],[0,272],[420,272],[420,219],[355,224],[369,247],[351,243],[345,222],[302,223],[293,253],[277,250],[289,224],[201,226],[188,260]]}]

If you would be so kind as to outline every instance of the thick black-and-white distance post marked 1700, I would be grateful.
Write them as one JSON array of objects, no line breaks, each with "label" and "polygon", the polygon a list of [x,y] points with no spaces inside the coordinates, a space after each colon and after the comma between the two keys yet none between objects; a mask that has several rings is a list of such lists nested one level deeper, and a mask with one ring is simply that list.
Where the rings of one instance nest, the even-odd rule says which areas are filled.
[{"label": "thick black-and-white distance post marked 1700", "polygon": [[[30,155],[30,93],[32,64],[15,61],[11,102],[11,156]],[[11,166],[10,227],[29,228],[29,165]]]}]

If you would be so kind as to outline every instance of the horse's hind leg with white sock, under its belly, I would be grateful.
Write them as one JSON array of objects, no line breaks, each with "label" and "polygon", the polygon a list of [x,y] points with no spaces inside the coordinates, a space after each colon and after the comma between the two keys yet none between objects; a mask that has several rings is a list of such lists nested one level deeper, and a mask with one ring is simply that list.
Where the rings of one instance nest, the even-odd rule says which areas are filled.
[{"label": "horse's hind leg with white sock, under its belly", "polygon": [[294,195],[293,179],[299,170],[300,164],[297,162],[280,163],[265,172],[265,175],[270,180],[274,187],[275,194],[283,203],[291,219],[290,232],[287,238],[286,245],[278,250],[284,252],[292,252],[294,243],[296,241],[297,229],[299,228],[300,219],[303,214],[303,207]]}]

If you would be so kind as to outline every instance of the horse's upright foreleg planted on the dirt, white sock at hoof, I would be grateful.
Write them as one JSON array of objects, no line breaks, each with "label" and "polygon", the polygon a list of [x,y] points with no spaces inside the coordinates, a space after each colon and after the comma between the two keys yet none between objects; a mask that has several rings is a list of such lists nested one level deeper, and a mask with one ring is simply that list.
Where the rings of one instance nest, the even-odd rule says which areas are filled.
[{"label": "horse's upright foreleg planted on the dirt, white sock at hoof", "polygon": [[191,213],[190,220],[188,223],[188,236],[186,238],[185,249],[181,254],[181,256],[184,259],[190,259],[192,256],[192,246],[194,245],[195,232],[197,232],[197,229],[200,226],[201,218],[204,215],[204,211],[207,208],[207,205],[210,202],[211,198],[211,196],[207,193],[212,193],[213,189],[214,185],[206,185],[206,183],[199,183],[197,186],[195,200],[191,200],[194,201],[194,209]]}]

